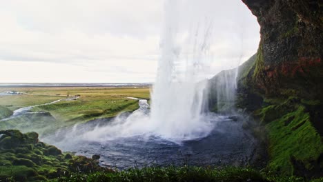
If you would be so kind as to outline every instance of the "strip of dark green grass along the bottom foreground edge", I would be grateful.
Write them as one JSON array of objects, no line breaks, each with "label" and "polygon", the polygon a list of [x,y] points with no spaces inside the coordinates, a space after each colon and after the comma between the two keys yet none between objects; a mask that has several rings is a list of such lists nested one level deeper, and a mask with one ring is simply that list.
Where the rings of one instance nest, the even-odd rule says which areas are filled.
[{"label": "strip of dark green grass along the bottom foreground edge", "polygon": [[79,182],[79,181],[110,181],[110,182],[188,182],[188,181],[214,181],[214,182],[305,182],[305,181],[323,181],[323,179],[303,179],[297,176],[277,176],[265,174],[251,168],[201,168],[194,166],[168,166],[168,167],[148,167],[131,168],[126,171],[106,173],[92,172],[90,174],[74,173],[61,176],[50,181],[55,182]]}]

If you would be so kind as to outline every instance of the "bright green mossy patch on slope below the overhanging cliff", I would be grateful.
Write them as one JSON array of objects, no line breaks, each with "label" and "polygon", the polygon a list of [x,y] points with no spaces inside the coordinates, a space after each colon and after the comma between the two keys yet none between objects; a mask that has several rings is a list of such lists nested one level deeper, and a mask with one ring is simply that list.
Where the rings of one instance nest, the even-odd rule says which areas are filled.
[{"label": "bright green mossy patch on slope below the overhanging cliff", "polygon": [[313,170],[323,154],[322,137],[313,127],[304,106],[266,125],[269,134],[268,168],[282,174],[297,174],[297,165]]}]

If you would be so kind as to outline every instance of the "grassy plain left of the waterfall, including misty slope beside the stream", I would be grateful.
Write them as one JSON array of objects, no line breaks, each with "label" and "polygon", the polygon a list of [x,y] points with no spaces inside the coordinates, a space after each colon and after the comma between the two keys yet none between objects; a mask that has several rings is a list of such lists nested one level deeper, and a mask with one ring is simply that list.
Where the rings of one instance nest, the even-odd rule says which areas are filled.
[{"label": "grassy plain left of the waterfall, including misty slope beside the stream", "polygon": [[[60,101],[51,105],[41,105],[32,108],[34,112],[49,112],[50,114],[33,114],[21,116],[0,123],[3,130],[18,129],[23,132],[36,131],[39,134],[54,132],[75,123],[84,123],[92,119],[115,117],[120,112],[133,112],[139,108],[138,101],[127,97],[149,99],[150,88],[0,88],[1,90],[16,90],[21,95],[2,96],[0,105],[6,105],[10,110],[39,105],[81,95],[77,100]],[[1,107],[3,117],[8,117],[10,110]],[[5,112],[6,111],[6,112]],[[6,115],[5,115],[6,114]]]}]

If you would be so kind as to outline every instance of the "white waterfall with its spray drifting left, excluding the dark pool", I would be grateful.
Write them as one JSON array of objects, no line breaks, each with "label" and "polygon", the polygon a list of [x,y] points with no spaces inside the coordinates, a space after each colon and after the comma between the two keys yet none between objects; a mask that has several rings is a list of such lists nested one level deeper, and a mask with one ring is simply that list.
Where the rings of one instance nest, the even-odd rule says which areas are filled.
[{"label": "white waterfall with its spray drifting left, excluding the dark pool", "polygon": [[[227,12],[232,8],[231,3],[166,0],[161,57],[150,112],[146,101],[139,101],[141,108],[130,116],[121,114],[108,125],[95,128],[82,126],[83,130],[66,134],[66,140],[105,142],[132,136],[141,139],[157,136],[180,143],[210,134],[217,119],[204,112],[208,101],[207,79],[219,70],[238,65],[232,54],[238,52],[235,45],[239,38],[224,33],[235,29],[235,23],[227,22],[227,19],[235,20],[231,11]],[[224,15],[226,19],[222,17]],[[217,92],[217,98],[234,100],[232,90],[236,88],[236,78],[237,72],[233,71],[214,84],[222,88]]]}]

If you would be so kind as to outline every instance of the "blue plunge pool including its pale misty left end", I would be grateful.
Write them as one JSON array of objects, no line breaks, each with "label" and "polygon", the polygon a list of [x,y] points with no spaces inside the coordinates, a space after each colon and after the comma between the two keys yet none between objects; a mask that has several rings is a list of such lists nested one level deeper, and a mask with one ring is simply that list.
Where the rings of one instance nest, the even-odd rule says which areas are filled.
[{"label": "blue plunge pool including its pale misty left end", "polygon": [[[141,101],[139,111],[147,112],[147,108],[143,108],[145,103]],[[124,115],[126,118],[131,114]],[[211,133],[200,139],[186,141],[162,139],[152,134],[94,141],[85,139],[82,135],[96,128],[109,127],[111,119],[75,125],[74,128],[61,130],[43,140],[64,151],[77,152],[79,155],[91,157],[93,154],[99,154],[101,165],[121,170],[153,164],[246,165],[253,155],[255,140],[248,131],[242,129],[242,121],[233,121],[229,117],[214,113],[208,114],[207,117],[213,123]]]}]

